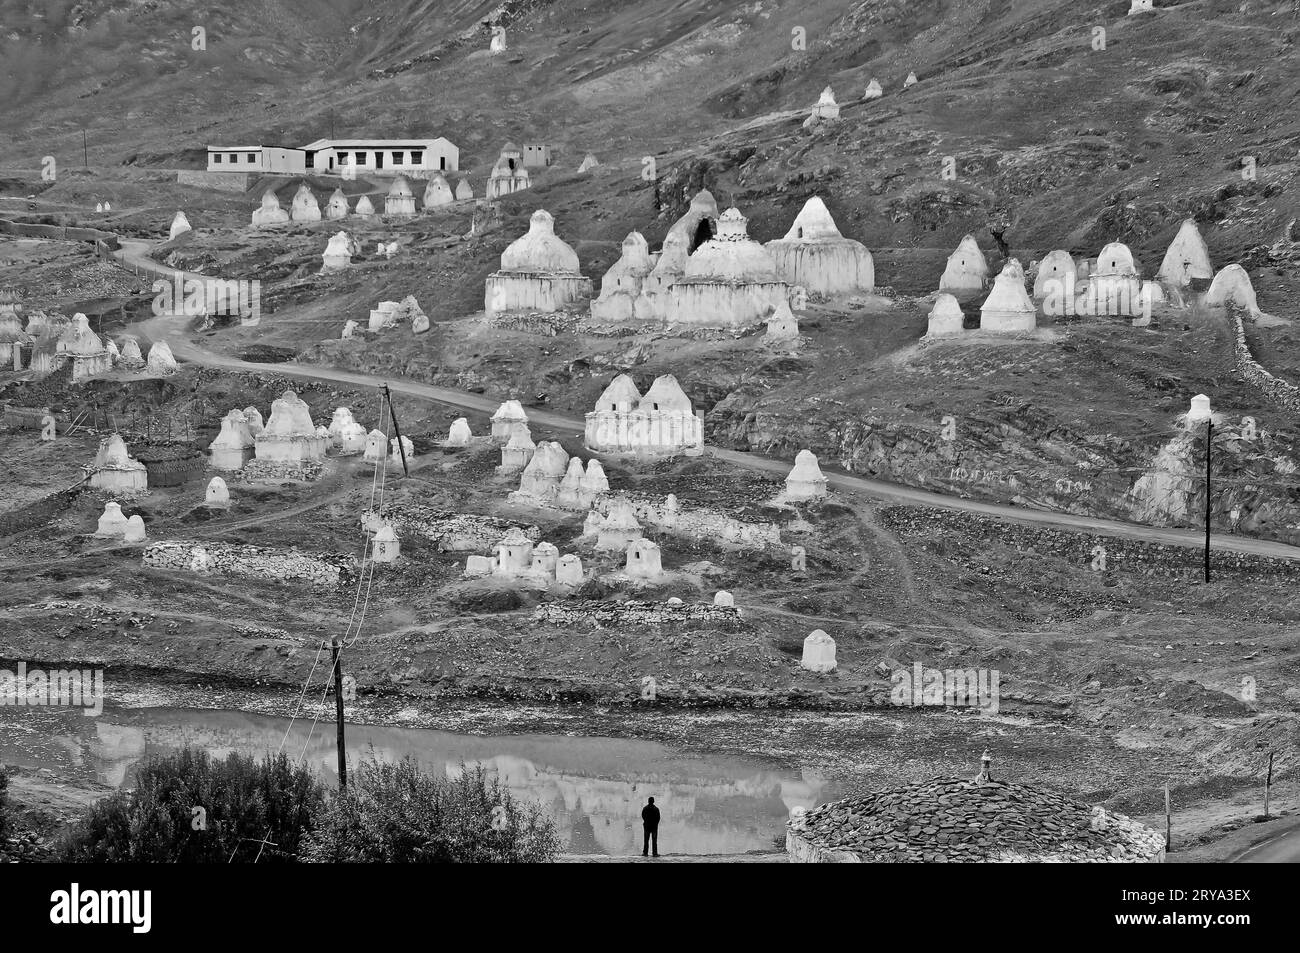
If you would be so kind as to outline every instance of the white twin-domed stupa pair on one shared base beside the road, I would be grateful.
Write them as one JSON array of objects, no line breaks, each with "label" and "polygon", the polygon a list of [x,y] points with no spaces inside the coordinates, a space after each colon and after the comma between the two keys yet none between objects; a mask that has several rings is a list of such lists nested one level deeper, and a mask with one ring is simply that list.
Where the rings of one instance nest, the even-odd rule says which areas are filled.
[{"label": "white twin-domed stupa pair on one shared base beside the road", "polygon": [[656,377],[645,395],[619,374],[586,415],[582,442],[604,454],[696,455],[705,446],[705,419],[672,374]]}]

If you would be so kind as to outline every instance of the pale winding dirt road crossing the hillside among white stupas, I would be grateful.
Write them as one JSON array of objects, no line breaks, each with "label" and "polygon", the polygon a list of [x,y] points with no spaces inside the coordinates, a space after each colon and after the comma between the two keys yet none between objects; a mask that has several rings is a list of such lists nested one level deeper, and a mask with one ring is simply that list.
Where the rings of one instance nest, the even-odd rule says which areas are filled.
[{"label": "pale winding dirt road crossing the hillside among white stupas", "polygon": [[[148,248],[148,242],[125,241],[122,242],[121,250],[114,252],[114,257],[122,261],[126,267],[133,269],[139,268],[155,274],[168,274],[174,270],[150,259],[147,256]],[[188,277],[196,278],[199,276],[191,274]],[[173,354],[178,359],[202,364],[204,367],[243,373],[299,377],[312,381],[343,384],[361,389],[378,389],[386,384],[395,394],[404,394],[407,397],[445,404],[458,410],[478,411],[489,415],[493,413],[500,403],[499,400],[478,394],[454,390],[451,387],[438,387],[416,381],[407,381],[400,377],[382,378],[372,374],[339,371],[337,368],[318,367],[313,364],[256,364],[238,360],[237,358],[208,351],[186,341],[181,335],[185,320],[186,319],[183,317],[155,317],[136,325],[135,328],[151,338],[166,338]],[[567,430],[573,436],[581,436],[584,430],[584,421],[576,417],[567,417],[532,407],[528,408],[528,416],[529,420],[536,421],[540,425],[556,430]],[[736,467],[772,473],[779,477],[784,477],[792,465],[788,460],[776,460],[758,454],[724,450],[720,447],[710,447],[705,452],[718,460],[723,460]],[[902,484],[888,482],[885,480],[849,476],[848,473],[840,473],[827,467],[823,467],[823,472],[826,473],[829,485],[837,490],[862,493],[887,503],[932,506],[944,510],[976,514],[1009,523],[1046,527],[1049,529],[1062,529],[1069,532],[1093,533],[1119,540],[1136,540],[1139,542],[1186,546],[1188,549],[1201,549],[1205,545],[1204,534],[1197,530],[1148,527],[1138,523],[1123,523],[1119,520],[1106,520],[1092,516],[1075,516],[1072,514],[1034,510],[1028,507],[1010,506],[1006,503],[985,503],[974,499],[959,499],[956,497],[945,497],[940,493],[932,493],[930,490],[919,490]],[[1270,540],[1252,540],[1236,536],[1212,536],[1210,547],[1212,550],[1219,550],[1223,553],[1242,553],[1257,556],[1300,560],[1300,547]]]}]

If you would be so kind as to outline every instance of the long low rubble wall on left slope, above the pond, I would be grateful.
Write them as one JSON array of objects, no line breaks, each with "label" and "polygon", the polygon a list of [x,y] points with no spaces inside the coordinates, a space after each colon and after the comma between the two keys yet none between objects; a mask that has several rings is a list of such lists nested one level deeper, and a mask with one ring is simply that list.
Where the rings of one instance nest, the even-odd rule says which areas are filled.
[{"label": "long low rubble wall on left slope, above the pond", "polygon": [[[203,563],[207,554],[207,564]],[[355,572],[355,559],[335,553],[298,553],[217,541],[166,540],[144,549],[143,563],[155,569],[247,576],[272,582],[337,586]]]}]

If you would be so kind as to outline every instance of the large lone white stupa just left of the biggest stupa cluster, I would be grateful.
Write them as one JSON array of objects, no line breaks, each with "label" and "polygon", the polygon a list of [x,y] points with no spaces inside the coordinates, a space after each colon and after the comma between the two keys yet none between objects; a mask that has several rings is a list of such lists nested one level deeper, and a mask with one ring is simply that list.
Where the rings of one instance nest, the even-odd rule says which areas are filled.
[{"label": "large lone white stupa just left of the biggest stupa cluster", "polygon": [[[523,166],[520,166],[523,168]],[[592,296],[592,280],[578,270],[577,252],[555,234],[546,209],[533,212],[528,234],[500,255],[500,269],[488,276],[484,309],[554,312]]]}]

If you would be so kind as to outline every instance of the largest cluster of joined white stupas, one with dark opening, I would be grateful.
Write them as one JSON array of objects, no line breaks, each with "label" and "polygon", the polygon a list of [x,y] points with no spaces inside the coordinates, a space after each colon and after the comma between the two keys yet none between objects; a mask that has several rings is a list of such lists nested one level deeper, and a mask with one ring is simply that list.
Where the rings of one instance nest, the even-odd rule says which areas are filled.
[{"label": "largest cluster of joined white stupas, one with dark opening", "polygon": [[805,203],[784,237],[760,244],[749,237],[738,209],[719,215],[714,196],[701,191],[659,252],[651,254],[638,231],[623,241],[623,254],[592,302],[592,317],[716,328],[775,317],[774,337],[794,337],[792,298],[874,287],[871,252],[840,234],[820,198]]}]

